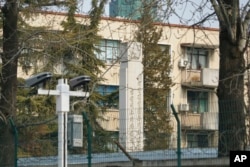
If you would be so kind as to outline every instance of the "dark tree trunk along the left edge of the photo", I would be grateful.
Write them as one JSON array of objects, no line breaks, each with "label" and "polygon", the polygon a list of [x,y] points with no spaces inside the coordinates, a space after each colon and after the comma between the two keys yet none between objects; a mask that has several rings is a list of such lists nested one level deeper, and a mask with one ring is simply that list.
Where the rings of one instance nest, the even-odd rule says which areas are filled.
[{"label": "dark tree trunk along the left edge of the photo", "polygon": [[18,37],[18,3],[7,0],[3,13],[3,54],[1,71],[0,166],[15,166],[14,130],[10,120],[16,115]]}]

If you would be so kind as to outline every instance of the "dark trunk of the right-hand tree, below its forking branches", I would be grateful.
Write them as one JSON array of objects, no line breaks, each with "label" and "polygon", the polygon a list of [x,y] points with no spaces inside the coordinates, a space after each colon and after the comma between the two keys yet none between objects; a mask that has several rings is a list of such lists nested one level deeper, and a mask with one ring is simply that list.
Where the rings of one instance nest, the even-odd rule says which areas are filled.
[{"label": "dark trunk of the right-hand tree, below its forking branches", "polygon": [[[244,56],[238,42],[230,42],[228,29],[220,27],[219,156],[244,150],[246,140],[244,111]],[[240,36],[240,35],[239,35]]]}]

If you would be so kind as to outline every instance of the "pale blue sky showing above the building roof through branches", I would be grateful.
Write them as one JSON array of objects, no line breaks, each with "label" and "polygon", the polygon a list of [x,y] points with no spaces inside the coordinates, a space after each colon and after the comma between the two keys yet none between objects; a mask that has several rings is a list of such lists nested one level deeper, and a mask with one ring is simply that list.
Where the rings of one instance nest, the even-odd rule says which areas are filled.
[{"label": "pale blue sky showing above the building roof through branches", "polygon": [[[91,9],[91,0],[78,0],[78,1],[79,1],[78,13],[88,14],[88,12]],[[108,3],[105,5],[104,16],[109,16],[110,1],[111,0],[108,0]],[[161,0],[161,2],[166,2],[166,1],[168,0]],[[211,7],[211,3],[208,0],[185,0],[185,1],[189,1],[189,3],[182,3],[184,2],[184,0],[173,0],[174,10],[176,14],[163,16],[164,18],[170,16],[168,19],[164,20],[164,22],[171,24],[193,25],[199,22],[200,20],[204,19],[207,15],[214,12],[213,8]],[[241,6],[245,5],[246,3],[249,3],[250,6],[250,0],[240,0]],[[203,6],[200,7],[200,5]],[[218,28],[219,23],[217,21],[217,18],[214,16],[210,17],[210,19],[204,22],[201,26]]]}]

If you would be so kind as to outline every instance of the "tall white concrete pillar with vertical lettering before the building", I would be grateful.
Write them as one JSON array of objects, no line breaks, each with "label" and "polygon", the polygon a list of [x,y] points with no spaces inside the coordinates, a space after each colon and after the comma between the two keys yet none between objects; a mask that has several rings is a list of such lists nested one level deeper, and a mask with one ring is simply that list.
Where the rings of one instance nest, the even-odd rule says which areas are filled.
[{"label": "tall white concrete pillar with vertical lettering before the building", "polygon": [[119,142],[128,152],[143,150],[142,45],[121,45],[119,87]]}]

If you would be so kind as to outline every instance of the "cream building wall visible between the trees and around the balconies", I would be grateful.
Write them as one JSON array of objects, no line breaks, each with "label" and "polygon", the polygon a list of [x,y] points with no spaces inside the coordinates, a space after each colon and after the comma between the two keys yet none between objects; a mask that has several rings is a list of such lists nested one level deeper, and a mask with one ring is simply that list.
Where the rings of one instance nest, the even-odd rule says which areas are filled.
[{"label": "cream building wall visible between the trees and around the balconies", "polygon": [[[29,20],[32,26],[41,26],[41,23],[48,26],[53,30],[62,30],[60,23],[66,19],[65,14],[61,13],[40,13],[33,19]],[[76,19],[79,23],[88,24],[89,20],[87,16],[77,15]],[[119,40],[121,43],[135,41],[135,32],[137,31],[137,21],[130,21],[126,19],[115,19],[115,18],[102,18],[99,26],[98,34],[102,36],[103,39]],[[209,87],[204,86],[201,83],[201,71],[200,70],[189,70],[179,66],[180,60],[186,59],[187,55],[185,48],[196,47],[200,49],[207,49],[208,55],[208,69],[219,69],[219,31],[213,28],[198,28],[198,27],[188,27],[183,25],[170,25],[163,23],[155,23],[159,28],[163,29],[162,37],[159,44],[170,45],[171,47],[171,63],[172,63],[172,81],[174,86],[171,88],[171,102],[174,104],[178,112],[179,104],[186,104],[187,101],[187,91],[188,90],[206,90],[209,94],[209,112],[217,112],[217,105],[212,102],[217,101],[215,94],[216,86]],[[122,55],[120,55],[122,56]],[[102,81],[101,84],[106,85],[117,85],[119,86],[119,72],[120,72],[120,62],[117,61],[114,64],[107,64],[106,68],[102,69],[102,76],[106,79]],[[29,74],[25,74],[19,69],[19,75],[23,77],[28,77]],[[192,75],[197,75],[193,76]],[[200,77],[200,78],[199,78]],[[192,78],[198,78],[195,81],[188,80]],[[174,117],[171,117],[171,124],[173,125],[173,135],[171,136],[172,147],[176,147],[174,141],[177,140],[176,136],[176,121]],[[180,114],[181,123],[183,126],[189,127],[199,127],[202,128],[202,114],[197,113],[182,113]],[[208,118],[209,119],[209,118]],[[117,120],[118,121],[118,120]],[[216,119],[215,119],[216,121]],[[190,124],[191,122],[191,124]],[[204,121],[203,121],[204,122]],[[218,122],[215,122],[218,123]],[[108,129],[116,129],[117,124],[112,123],[115,127],[108,127],[106,123],[104,126]],[[195,125],[193,125],[195,124]],[[184,130],[184,129],[183,129]],[[187,131],[188,129],[185,129]],[[206,130],[206,129],[205,129]],[[214,130],[214,136],[216,136],[216,130]],[[184,134],[184,133],[183,133]],[[187,146],[186,136],[182,136],[182,146]],[[214,145],[216,139],[213,138],[210,145]],[[212,142],[212,144],[211,144]]]}]

